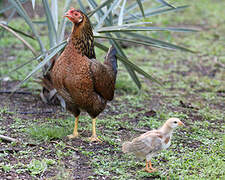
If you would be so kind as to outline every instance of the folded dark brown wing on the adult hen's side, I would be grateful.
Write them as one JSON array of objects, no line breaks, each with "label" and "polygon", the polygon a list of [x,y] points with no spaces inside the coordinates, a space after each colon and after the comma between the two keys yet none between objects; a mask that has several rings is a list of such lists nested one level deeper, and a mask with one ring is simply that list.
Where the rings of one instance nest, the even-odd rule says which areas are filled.
[{"label": "folded dark brown wing on the adult hen's side", "polygon": [[116,75],[113,70],[95,59],[90,60],[91,78],[95,91],[106,100],[112,100]]}]

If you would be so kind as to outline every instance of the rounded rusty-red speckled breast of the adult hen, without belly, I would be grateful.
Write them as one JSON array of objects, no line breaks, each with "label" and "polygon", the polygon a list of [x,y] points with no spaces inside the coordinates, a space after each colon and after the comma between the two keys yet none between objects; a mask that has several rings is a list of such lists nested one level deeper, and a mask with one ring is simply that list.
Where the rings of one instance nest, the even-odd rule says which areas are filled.
[{"label": "rounded rusty-red speckled breast of the adult hen, without belly", "polygon": [[79,54],[68,44],[52,69],[54,87],[59,93],[63,89],[69,93],[75,103],[82,105],[82,102],[93,92],[89,67],[90,61],[87,57]]}]

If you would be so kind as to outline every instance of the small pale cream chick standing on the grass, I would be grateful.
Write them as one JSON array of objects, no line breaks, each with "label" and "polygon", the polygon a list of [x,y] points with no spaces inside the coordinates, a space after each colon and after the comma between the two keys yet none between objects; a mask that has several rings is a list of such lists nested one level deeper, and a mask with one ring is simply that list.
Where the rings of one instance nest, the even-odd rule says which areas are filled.
[{"label": "small pale cream chick standing on the grass", "polygon": [[146,158],[145,171],[152,173],[156,171],[152,167],[151,158],[160,150],[170,146],[173,130],[177,126],[184,125],[178,118],[168,119],[161,128],[148,131],[131,142],[124,142],[122,151],[134,153],[138,158]]}]

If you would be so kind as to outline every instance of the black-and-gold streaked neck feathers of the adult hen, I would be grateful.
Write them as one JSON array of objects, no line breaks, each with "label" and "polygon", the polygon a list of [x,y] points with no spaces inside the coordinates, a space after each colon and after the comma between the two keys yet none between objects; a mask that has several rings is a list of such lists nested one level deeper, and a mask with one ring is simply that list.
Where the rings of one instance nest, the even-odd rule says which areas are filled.
[{"label": "black-and-gold streaked neck feathers of the adult hen", "polygon": [[94,51],[94,36],[91,23],[87,16],[84,16],[81,24],[73,24],[69,43],[75,46],[78,53],[87,56],[89,59],[96,58]]}]

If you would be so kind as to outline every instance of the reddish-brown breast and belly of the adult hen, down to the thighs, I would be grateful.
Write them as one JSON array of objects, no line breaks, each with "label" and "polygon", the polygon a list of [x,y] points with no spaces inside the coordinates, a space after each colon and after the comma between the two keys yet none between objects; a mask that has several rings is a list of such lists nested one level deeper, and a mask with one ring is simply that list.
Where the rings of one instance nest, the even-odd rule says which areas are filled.
[{"label": "reddish-brown breast and belly of the adult hen, down to the thighs", "polygon": [[106,100],[95,91],[91,64],[91,60],[68,44],[56,61],[51,77],[68,110],[85,110],[94,118],[104,110]]}]

